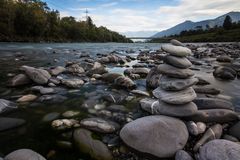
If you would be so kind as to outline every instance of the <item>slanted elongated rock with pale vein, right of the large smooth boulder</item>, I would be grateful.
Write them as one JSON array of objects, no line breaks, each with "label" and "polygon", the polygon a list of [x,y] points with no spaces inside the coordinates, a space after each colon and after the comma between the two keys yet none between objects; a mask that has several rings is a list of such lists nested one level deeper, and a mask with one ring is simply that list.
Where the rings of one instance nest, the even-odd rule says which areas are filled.
[{"label": "slanted elongated rock with pale vein, right of the large smooth boulder", "polygon": [[204,145],[205,143],[213,140],[219,139],[222,136],[222,126],[220,124],[215,124],[211,126],[202,136],[202,138],[197,141],[196,145],[193,147],[193,151],[197,152],[200,146]]}]

